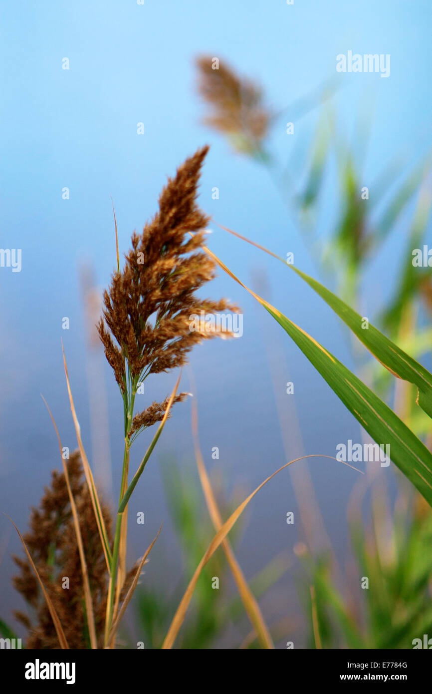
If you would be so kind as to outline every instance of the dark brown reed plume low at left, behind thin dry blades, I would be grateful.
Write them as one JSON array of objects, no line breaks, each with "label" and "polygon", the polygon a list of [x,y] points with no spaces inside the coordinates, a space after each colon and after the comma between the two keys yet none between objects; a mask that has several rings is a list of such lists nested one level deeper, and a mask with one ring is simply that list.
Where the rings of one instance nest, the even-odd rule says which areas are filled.
[{"label": "dark brown reed plume low at left, behind thin dry blades", "polygon": [[[83,480],[83,468],[78,451],[71,454],[67,461],[67,469],[83,538],[98,648],[103,648],[107,571],[92,502],[87,484]],[[104,505],[102,505],[102,514],[111,541],[110,514]],[[58,613],[69,648],[89,648],[83,575],[63,473],[57,471],[52,473],[51,486],[45,488],[40,507],[32,509],[30,531],[24,535],[24,540],[55,611]],[[27,559],[14,557],[14,561],[19,567],[19,574],[14,577],[13,584],[33,608],[32,618],[25,613],[15,612],[17,620],[29,630],[26,648],[58,648],[58,636],[33,568]],[[69,588],[62,587],[64,577],[69,578]]]}]

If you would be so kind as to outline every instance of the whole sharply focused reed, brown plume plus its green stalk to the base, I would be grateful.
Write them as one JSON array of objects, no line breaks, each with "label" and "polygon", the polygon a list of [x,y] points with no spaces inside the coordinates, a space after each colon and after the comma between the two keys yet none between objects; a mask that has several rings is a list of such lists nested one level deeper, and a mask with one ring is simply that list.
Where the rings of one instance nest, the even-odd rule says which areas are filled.
[{"label": "whole sharply focused reed, brown plume plus its green stalk to the base", "polygon": [[[110,557],[110,580],[105,619],[105,647],[114,644],[113,620],[119,609],[126,580],[128,501],[144,471],[171,406],[184,400],[176,395],[179,380],[170,398],[153,403],[135,414],[137,389],[152,373],[182,366],[191,348],[203,339],[216,337],[216,330],[191,330],[191,314],[207,315],[237,310],[225,300],[202,300],[196,290],[214,277],[215,265],[199,251],[208,218],[196,205],[200,167],[207,154],[204,147],[189,158],[170,179],[159,198],[159,212],[144,227],[141,236],[132,235],[132,248],[121,269],[117,225],[117,270],[110,289],[104,293],[103,319],[98,332],[107,361],[114,371],[123,400],[124,448],[116,514],[114,543]],[[114,206],[113,206],[114,210]],[[188,232],[193,232],[189,239]],[[188,240],[189,239],[189,240]],[[220,333],[219,333],[220,334]],[[225,331],[223,336],[230,337]],[[130,449],[139,434],[161,422],[137,473],[129,484]],[[113,633],[114,631],[114,633]]]}]

